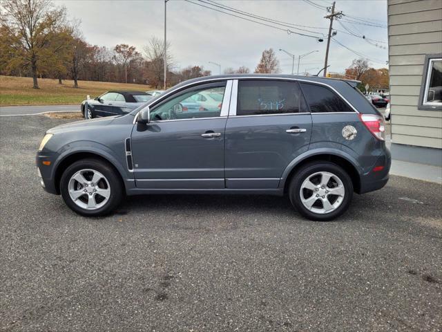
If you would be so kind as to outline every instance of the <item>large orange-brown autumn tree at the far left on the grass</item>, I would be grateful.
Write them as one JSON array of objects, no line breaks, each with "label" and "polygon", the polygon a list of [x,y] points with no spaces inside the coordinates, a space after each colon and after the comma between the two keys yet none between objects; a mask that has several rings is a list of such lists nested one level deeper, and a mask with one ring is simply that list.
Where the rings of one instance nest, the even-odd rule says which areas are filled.
[{"label": "large orange-brown autumn tree at the far left on the grass", "polygon": [[57,28],[66,20],[66,8],[54,8],[50,0],[3,0],[1,5],[1,30],[10,43],[7,66],[30,68],[33,87],[39,89],[41,57],[48,57],[44,53]]}]

